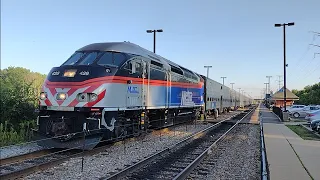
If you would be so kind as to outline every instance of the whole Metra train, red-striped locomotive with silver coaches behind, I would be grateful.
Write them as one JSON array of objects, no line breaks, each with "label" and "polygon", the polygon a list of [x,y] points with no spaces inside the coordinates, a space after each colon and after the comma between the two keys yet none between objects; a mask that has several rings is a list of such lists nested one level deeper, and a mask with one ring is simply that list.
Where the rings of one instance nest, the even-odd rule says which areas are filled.
[{"label": "whole Metra train, red-striped locomotive with silver coaches behind", "polygon": [[250,106],[252,99],[131,42],[93,43],[48,73],[35,137],[48,148],[92,149]]}]

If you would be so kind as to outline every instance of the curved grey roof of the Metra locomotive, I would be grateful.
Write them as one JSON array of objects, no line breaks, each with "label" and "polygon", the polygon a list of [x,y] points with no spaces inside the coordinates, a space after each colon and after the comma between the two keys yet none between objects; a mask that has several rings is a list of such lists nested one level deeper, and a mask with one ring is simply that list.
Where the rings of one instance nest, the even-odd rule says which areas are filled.
[{"label": "curved grey roof of the Metra locomotive", "polygon": [[[139,45],[136,45],[134,43],[130,42],[104,42],[104,43],[93,43],[86,45],[77,51],[115,51],[115,52],[124,52],[124,53],[130,53],[130,54],[136,54],[148,58],[152,58],[153,60],[157,60],[158,62],[161,62],[163,65],[169,67],[171,65],[182,67],[166,58],[163,58]],[[188,68],[185,68],[188,69]],[[188,69],[189,70],[189,69]],[[191,71],[191,70],[189,70]],[[193,71],[192,71],[193,72]]]}]

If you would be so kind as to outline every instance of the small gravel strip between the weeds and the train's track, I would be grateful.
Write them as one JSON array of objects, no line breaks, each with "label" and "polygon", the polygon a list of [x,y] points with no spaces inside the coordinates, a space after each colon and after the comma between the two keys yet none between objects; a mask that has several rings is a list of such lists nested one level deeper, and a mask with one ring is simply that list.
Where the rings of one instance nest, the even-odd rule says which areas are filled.
[{"label": "small gravel strip between the weeds and the train's track", "polygon": [[5,146],[0,148],[0,159],[28,154],[44,149],[36,143],[25,143],[19,145]]}]

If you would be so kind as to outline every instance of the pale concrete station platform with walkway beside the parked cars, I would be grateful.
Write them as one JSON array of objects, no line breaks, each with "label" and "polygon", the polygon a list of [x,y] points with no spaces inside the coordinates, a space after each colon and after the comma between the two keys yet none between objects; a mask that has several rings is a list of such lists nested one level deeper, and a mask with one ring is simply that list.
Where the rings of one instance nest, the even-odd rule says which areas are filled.
[{"label": "pale concrete station platform with walkway beside the parked cars", "polygon": [[263,105],[264,128],[271,180],[320,180],[320,141],[303,140]]}]

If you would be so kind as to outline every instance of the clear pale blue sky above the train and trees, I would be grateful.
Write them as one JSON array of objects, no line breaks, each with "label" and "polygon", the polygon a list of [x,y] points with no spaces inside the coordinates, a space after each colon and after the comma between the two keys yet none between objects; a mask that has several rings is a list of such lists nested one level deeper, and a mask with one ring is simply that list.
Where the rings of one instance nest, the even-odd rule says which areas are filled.
[{"label": "clear pale blue sky above the train and trees", "polygon": [[[319,82],[319,0],[2,0],[1,69],[21,66],[47,74],[75,50],[94,42],[130,41],[210,78],[234,82],[261,95],[267,75],[277,90],[283,75],[283,30],[287,28],[287,87]],[[282,77],[283,78],[283,77]]]}]

